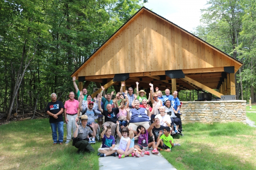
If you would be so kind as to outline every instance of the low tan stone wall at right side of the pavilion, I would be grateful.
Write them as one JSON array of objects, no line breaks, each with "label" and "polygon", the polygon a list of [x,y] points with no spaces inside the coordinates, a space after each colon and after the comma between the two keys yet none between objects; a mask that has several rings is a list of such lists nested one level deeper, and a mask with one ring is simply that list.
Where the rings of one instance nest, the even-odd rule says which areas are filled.
[{"label": "low tan stone wall at right side of the pavilion", "polygon": [[182,123],[243,122],[246,123],[246,101],[183,101]]}]

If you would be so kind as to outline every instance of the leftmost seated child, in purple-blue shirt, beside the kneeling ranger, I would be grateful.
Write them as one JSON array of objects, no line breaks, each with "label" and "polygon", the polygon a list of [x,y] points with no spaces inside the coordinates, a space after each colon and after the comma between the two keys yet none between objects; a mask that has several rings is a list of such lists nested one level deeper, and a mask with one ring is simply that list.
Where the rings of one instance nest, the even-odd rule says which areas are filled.
[{"label": "leftmost seated child, in purple-blue shirt, beside the kneeling ranger", "polygon": [[111,136],[111,127],[103,127],[101,132],[102,147],[98,149],[98,156],[106,157],[108,155],[116,156],[117,147],[115,147],[114,136]]}]

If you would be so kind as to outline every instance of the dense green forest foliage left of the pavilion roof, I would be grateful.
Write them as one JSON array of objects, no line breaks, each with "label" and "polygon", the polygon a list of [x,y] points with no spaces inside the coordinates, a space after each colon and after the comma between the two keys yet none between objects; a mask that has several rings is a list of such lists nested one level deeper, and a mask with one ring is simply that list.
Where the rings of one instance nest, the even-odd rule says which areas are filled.
[{"label": "dense green forest foliage left of the pavilion roof", "polygon": [[[30,59],[38,44],[20,85],[19,108],[31,110],[38,93],[38,109],[46,107],[53,92],[65,101],[74,90],[71,73],[142,5],[139,0],[1,1],[0,111],[8,110],[21,74],[22,53]],[[93,87],[89,86],[89,94]]]}]

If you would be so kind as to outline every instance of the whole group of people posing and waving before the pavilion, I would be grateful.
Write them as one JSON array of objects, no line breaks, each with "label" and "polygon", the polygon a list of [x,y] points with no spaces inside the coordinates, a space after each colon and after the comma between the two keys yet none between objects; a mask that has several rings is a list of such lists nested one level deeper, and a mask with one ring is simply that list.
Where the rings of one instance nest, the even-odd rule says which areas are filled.
[{"label": "whole group of people posing and waving before the pavilion", "polygon": [[[120,92],[112,100],[112,95],[108,93],[102,96],[105,88],[101,86],[101,92],[92,98],[87,94],[87,89],[79,91],[76,85],[76,77],[73,77],[73,84],[78,100],[75,100],[75,93],[69,93],[69,100],[63,103],[57,101],[57,95],[51,94],[52,101],[48,103],[46,112],[50,119],[52,128],[53,144],[63,144],[63,116],[67,124],[66,144],[71,141],[73,134],[73,145],[79,152],[93,152],[91,143],[95,143],[95,135],[98,127],[102,128],[102,148],[98,149],[98,155],[105,157],[108,155],[124,158],[125,156],[143,157],[149,155],[148,148],[153,147],[152,154],[158,154],[159,149],[170,151],[171,147],[179,144],[173,143],[170,134],[180,133],[181,120],[177,117],[180,113],[180,101],[177,98],[177,91],[170,95],[170,90],[162,92],[150,85],[148,99],[144,97],[146,92],[138,90],[139,82],[136,82],[137,93],[133,94],[130,87],[123,92],[125,83],[121,83]],[[152,108],[147,104],[151,100]],[[105,116],[105,123],[102,124],[102,116]],[[95,123],[97,119],[98,123]],[[151,125],[150,125],[151,121]],[[127,127],[127,123],[129,125]],[[176,128],[174,128],[174,123]],[[121,132],[119,130],[121,127]],[[58,130],[58,135],[57,135]],[[120,137],[119,147],[115,147],[114,132]],[[91,138],[89,137],[91,135]],[[150,140],[153,137],[155,141]],[[134,139],[138,138],[138,144],[134,145]],[[75,140],[74,140],[75,139]]]}]

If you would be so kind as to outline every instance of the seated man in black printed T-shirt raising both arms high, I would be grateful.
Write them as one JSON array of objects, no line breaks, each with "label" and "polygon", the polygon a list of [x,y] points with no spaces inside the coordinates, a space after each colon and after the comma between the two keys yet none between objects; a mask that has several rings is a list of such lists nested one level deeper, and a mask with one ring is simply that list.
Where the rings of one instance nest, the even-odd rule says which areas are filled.
[{"label": "seated man in black printed T-shirt raising both arms high", "polygon": [[112,105],[108,104],[106,107],[107,110],[103,110],[101,108],[101,98],[99,98],[98,102],[99,111],[101,111],[101,114],[105,116],[105,123],[103,123],[102,126],[110,126],[112,136],[114,136],[114,131],[116,129],[116,121],[118,120],[117,114],[119,113],[119,109],[121,109],[124,105],[124,96],[121,95],[120,98],[122,99],[122,101],[121,105],[118,108],[112,108]]}]

